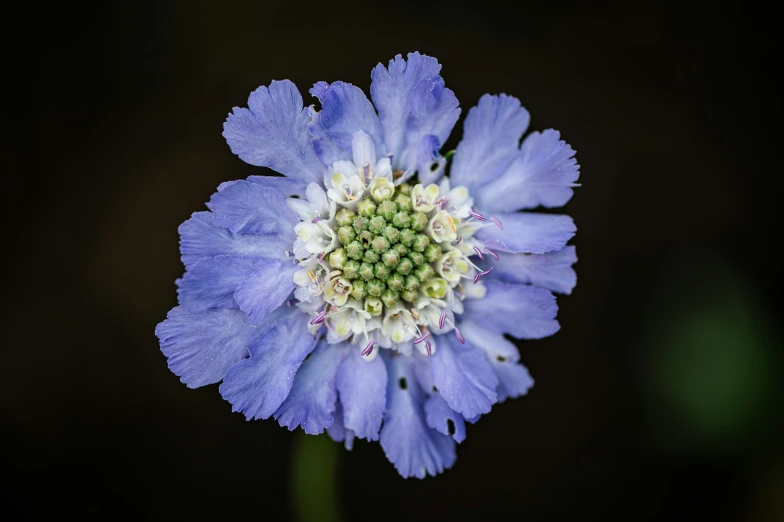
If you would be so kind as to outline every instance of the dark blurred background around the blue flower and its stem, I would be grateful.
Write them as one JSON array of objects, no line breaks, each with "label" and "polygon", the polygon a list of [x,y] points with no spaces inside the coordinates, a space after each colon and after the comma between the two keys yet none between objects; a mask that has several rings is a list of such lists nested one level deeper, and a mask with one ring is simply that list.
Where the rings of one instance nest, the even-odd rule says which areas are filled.
[{"label": "dark blurred background around the blue flower and its stem", "polygon": [[578,286],[561,332],[521,345],[536,386],[471,426],[451,471],[403,480],[378,444],[341,450],[346,519],[784,520],[775,22],[699,1],[7,12],[3,511],[291,518],[297,438],[159,352],[177,226],[261,173],[221,137],[251,90],[367,91],[419,50],[463,115],[506,92],[578,151]]}]

